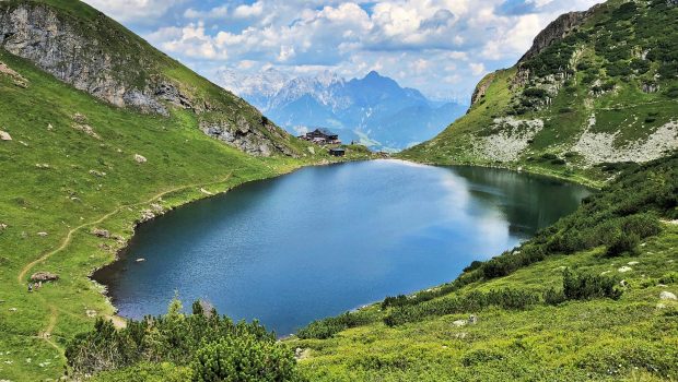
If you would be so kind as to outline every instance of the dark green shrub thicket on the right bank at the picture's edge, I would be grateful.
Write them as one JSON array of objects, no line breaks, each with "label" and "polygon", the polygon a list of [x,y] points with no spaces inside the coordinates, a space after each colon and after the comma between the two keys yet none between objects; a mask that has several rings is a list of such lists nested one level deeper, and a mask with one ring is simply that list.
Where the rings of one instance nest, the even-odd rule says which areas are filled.
[{"label": "dark green shrub thicket on the right bank at the picture's edge", "polygon": [[678,155],[622,167],[628,169],[618,181],[585,199],[574,214],[538,232],[518,250],[493,258],[468,273],[501,277],[550,254],[599,246],[606,247],[607,255],[619,255],[632,251],[640,240],[657,235],[658,216],[673,218],[678,214]]}]

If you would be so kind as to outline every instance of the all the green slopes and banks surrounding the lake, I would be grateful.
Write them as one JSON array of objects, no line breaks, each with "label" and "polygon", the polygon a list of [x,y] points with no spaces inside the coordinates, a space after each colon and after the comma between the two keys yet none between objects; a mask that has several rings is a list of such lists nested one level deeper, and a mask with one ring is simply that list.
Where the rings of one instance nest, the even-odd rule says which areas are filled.
[{"label": "all the green slopes and banks surrounding the lake", "polygon": [[206,301],[127,321],[90,278],[180,205],[378,157],[343,147],[285,133],[80,1],[0,1],[0,382],[678,380],[676,1],[559,17],[396,155],[597,189],[447,284],[277,338]]}]

